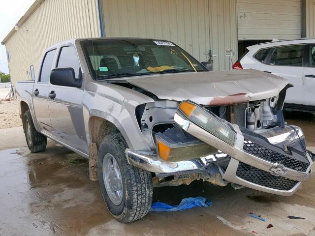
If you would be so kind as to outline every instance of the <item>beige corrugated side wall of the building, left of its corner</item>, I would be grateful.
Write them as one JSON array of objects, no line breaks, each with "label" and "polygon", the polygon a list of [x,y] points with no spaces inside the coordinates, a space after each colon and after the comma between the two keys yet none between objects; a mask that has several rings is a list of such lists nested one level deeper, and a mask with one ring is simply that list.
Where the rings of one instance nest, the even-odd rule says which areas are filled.
[{"label": "beige corrugated side wall of the building, left of its corner", "polygon": [[23,22],[26,28],[20,27],[5,42],[12,58],[9,62],[12,84],[31,79],[30,65],[34,65],[37,75],[47,47],[71,38],[99,37],[96,3],[96,0],[42,1]]}]

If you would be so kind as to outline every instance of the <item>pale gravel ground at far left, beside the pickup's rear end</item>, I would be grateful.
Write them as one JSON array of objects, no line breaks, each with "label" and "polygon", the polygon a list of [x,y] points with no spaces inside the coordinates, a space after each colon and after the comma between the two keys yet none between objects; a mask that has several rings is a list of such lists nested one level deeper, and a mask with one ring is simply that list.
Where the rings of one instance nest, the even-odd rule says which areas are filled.
[{"label": "pale gravel ground at far left, beside the pickup's rear end", "polygon": [[22,126],[16,101],[0,101],[0,129],[16,126]]}]

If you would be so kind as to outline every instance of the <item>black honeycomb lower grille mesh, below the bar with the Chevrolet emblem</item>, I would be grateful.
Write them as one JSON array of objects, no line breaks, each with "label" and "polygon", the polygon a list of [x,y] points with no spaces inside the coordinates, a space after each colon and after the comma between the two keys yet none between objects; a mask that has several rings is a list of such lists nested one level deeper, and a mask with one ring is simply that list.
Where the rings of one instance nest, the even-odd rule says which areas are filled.
[{"label": "black honeycomb lower grille mesh, below the bar with the Chevrolet emblem", "polygon": [[236,176],[264,187],[286,191],[292,189],[298,183],[298,181],[289,178],[273,176],[266,171],[242,162],[238,165]]}]

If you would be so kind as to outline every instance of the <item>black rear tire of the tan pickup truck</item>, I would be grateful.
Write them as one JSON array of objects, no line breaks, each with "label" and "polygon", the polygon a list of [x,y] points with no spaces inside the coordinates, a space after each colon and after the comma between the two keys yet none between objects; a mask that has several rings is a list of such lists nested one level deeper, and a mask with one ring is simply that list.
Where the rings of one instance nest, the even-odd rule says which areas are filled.
[{"label": "black rear tire of the tan pickup truck", "polygon": [[[28,131],[29,127],[30,130]],[[38,133],[37,130],[35,129],[30,110],[26,111],[24,114],[23,130],[25,134],[26,143],[28,144],[28,147],[31,152],[40,152],[46,149],[47,138],[41,133]]]}]

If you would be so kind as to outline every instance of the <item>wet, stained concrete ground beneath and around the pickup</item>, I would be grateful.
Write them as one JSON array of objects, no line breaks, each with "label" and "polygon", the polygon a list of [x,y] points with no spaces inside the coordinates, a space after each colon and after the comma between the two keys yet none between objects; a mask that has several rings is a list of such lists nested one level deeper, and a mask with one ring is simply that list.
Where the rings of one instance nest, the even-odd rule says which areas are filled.
[{"label": "wet, stained concrete ground beneath and around the pickup", "polygon": [[[286,113],[286,121],[303,128],[314,150],[315,116]],[[149,212],[122,224],[103,203],[99,184],[90,181],[88,162],[49,141],[42,153],[30,153],[22,127],[0,129],[0,235],[128,235],[128,236],[314,236],[315,180],[294,196],[281,197],[249,188],[234,190],[195,181],[154,189],[154,201],[171,205],[182,198],[203,196],[213,206],[181,212]],[[249,216],[252,212],[266,222]],[[292,220],[288,215],[305,219]],[[266,227],[272,224],[273,227]]]}]

